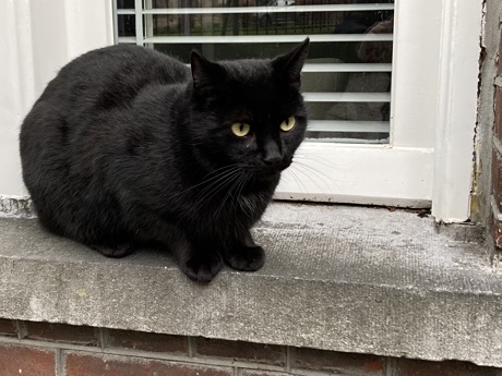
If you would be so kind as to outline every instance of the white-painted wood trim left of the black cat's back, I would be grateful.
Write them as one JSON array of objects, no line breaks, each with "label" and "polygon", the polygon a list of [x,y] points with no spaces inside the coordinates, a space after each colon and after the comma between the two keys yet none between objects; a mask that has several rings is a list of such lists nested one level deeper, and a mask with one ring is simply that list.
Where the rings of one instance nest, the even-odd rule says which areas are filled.
[{"label": "white-painted wood trim left of the black cat's back", "polygon": [[61,66],[113,43],[111,1],[0,1],[0,195],[26,195],[20,125]]}]

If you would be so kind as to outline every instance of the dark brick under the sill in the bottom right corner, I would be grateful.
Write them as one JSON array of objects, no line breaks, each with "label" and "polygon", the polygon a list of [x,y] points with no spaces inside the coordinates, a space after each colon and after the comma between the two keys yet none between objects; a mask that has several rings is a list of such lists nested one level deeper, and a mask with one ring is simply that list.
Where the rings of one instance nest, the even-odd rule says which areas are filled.
[{"label": "dark brick under the sill in the bottom right corner", "polygon": [[397,361],[396,376],[500,376],[500,368],[480,367],[466,362],[426,362],[409,359]]}]

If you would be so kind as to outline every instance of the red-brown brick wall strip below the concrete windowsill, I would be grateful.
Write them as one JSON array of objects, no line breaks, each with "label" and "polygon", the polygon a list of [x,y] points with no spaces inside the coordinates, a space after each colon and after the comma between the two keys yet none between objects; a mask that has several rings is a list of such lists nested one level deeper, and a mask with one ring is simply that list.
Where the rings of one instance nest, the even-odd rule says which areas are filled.
[{"label": "red-brown brick wall strip below the concrete windowsill", "polygon": [[0,318],[1,376],[502,376],[502,368]]}]

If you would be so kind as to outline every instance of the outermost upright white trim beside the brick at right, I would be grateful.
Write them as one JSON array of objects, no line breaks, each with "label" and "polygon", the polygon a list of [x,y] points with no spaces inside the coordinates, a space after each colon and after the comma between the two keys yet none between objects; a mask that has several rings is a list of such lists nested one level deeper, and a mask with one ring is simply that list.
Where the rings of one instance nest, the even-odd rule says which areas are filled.
[{"label": "outermost upright white trim beside the brick at right", "polygon": [[469,218],[477,116],[481,0],[443,0],[432,215]]}]

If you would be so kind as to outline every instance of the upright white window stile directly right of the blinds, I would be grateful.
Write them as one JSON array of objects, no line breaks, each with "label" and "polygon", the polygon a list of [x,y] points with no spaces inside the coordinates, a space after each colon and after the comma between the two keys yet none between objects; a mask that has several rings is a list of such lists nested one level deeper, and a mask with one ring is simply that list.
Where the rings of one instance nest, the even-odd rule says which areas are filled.
[{"label": "upright white window stile directly right of the blinds", "polygon": [[434,147],[440,14],[438,0],[396,2],[391,90],[393,146]]}]

